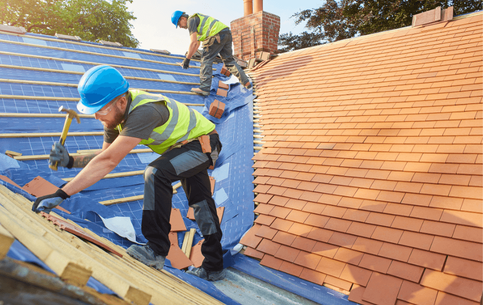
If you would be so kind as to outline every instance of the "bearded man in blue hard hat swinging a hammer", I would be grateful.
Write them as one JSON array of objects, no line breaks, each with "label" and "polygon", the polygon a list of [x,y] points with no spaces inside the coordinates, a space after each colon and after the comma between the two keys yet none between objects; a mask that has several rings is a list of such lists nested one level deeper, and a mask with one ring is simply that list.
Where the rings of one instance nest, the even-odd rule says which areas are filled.
[{"label": "bearded man in blue hard hat swinging a hammer", "polygon": [[132,245],[127,253],[148,266],[163,268],[171,245],[171,184],[180,180],[204,238],[203,263],[188,272],[205,280],[222,280],[222,231],[207,172],[222,147],[215,125],[173,99],[129,89],[128,81],[109,66],[89,69],[80,79],[78,90],[81,99],[77,109],[94,114],[104,125],[102,149],[73,157],[64,146],[55,143],[50,162],[83,169],[62,189],[37,198],[32,209],[50,212],[63,200],[102,179],[134,147],[147,145],[161,155],[144,170],[141,231],[148,242],[145,246]]}]

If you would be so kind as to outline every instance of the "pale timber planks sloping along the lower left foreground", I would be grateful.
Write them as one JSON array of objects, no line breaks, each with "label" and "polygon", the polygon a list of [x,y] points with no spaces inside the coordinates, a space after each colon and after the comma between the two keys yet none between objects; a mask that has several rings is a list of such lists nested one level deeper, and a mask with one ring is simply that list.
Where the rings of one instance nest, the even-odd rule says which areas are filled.
[{"label": "pale timber planks sloping along the lower left foreground", "polygon": [[[41,260],[56,268],[54,271],[57,275],[62,275],[65,280],[79,282],[76,277],[84,278],[88,274],[86,272],[92,270],[93,278],[134,304],[147,305],[149,302],[154,305],[221,304],[218,300],[164,270],[160,272],[149,268],[129,255],[123,255],[122,258],[109,255],[99,247],[84,242],[67,231],[58,230],[53,224],[32,212],[31,201],[12,193],[3,186],[0,186],[0,200],[4,205],[0,206],[0,223],[8,224],[10,227],[6,229],[12,235],[15,237],[18,235],[23,241],[20,238],[17,239],[29,250],[35,252],[34,254]],[[54,212],[51,212],[51,215],[62,219]],[[69,220],[67,222],[78,226]],[[125,253],[122,247],[85,228],[82,230],[112,249]],[[72,264],[77,264],[87,271],[79,272],[80,269]]]}]

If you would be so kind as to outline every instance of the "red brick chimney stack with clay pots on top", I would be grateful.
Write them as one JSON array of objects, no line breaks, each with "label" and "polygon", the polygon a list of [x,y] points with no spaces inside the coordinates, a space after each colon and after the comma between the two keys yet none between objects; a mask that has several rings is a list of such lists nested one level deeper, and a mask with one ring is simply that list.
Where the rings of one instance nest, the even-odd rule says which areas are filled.
[{"label": "red brick chimney stack with clay pots on top", "polygon": [[[240,59],[278,51],[280,17],[263,11],[263,0],[244,0],[245,16],[231,21],[233,54]],[[253,12],[253,13],[252,13]]]}]

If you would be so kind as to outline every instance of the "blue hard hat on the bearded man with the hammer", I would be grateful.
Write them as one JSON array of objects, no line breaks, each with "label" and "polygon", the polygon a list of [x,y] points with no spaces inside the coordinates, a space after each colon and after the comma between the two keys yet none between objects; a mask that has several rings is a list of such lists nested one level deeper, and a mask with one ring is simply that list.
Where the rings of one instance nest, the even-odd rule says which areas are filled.
[{"label": "blue hard hat on the bearded man with the hammer", "polygon": [[116,69],[106,65],[90,68],[77,86],[80,95],[77,110],[93,114],[128,89],[129,82]]}]

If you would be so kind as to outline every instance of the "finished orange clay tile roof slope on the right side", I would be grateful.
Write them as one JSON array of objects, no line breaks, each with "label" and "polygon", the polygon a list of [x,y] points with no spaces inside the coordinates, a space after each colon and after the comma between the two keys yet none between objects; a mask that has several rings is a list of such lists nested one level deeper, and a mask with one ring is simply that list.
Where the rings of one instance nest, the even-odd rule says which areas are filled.
[{"label": "finished orange clay tile roof slope on the right side", "polygon": [[254,73],[261,264],[361,304],[482,293],[482,15],[282,54]]}]

